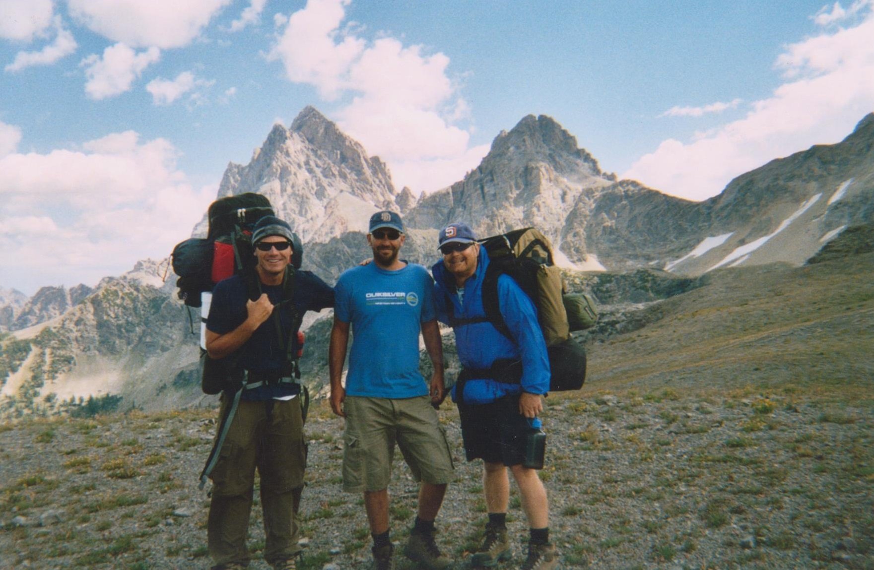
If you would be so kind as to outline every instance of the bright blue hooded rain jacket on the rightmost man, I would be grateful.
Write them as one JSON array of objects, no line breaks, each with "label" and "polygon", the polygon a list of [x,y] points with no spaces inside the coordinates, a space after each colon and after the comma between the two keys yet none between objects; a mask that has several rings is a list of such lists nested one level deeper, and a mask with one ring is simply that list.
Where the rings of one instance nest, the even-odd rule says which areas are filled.
[{"label": "bright blue hooded rain jacket on the rightmost man", "polygon": [[[463,305],[455,294],[454,276],[439,261],[434,273],[434,306],[441,323],[449,324],[447,302],[453,303],[455,318],[484,317],[482,279],[489,267],[489,254],[480,248],[476,272],[464,283]],[[449,294],[449,292],[452,294]],[[531,298],[525,295],[509,275],[497,280],[498,306],[510,329],[511,341],[489,322],[461,324],[454,328],[455,344],[461,365],[468,369],[488,369],[499,358],[522,358],[521,384],[505,384],[494,379],[471,379],[464,386],[464,401],[487,404],[503,396],[522,391],[543,394],[549,391],[550,367],[538,313]],[[455,386],[452,399],[457,401]]]}]

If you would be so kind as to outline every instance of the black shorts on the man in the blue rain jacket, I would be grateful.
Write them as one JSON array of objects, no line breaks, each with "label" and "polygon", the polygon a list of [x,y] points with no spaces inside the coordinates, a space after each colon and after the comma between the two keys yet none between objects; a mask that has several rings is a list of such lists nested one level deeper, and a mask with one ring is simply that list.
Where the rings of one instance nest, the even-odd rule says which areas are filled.
[{"label": "black shorts on the man in the blue rain jacket", "polygon": [[525,439],[531,424],[519,414],[518,394],[490,404],[464,404],[459,413],[468,461],[482,459],[507,467],[524,463]]}]

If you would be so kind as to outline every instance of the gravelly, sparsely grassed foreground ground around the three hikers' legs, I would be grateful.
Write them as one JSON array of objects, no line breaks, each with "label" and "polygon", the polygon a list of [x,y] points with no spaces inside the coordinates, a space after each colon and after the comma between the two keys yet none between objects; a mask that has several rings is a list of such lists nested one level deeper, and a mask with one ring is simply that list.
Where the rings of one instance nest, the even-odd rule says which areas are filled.
[{"label": "gravelly, sparsely grassed foreground ground around the three hikers' legs", "polygon": [[[486,520],[482,468],[463,460],[454,407],[444,404],[440,421],[456,477],[437,541],[461,562]],[[870,406],[780,388],[584,388],[551,395],[544,421],[541,476],[565,568],[871,567]],[[212,411],[189,411],[0,429],[0,567],[210,567],[209,501],[197,477],[214,424]],[[301,567],[364,570],[364,508],[360,497],[341,491],[343,421],[322,402],[306,429]],[[417,488],[400,462],[390,493],[393,538],[402,543]],[[267,569],[261,525],[256,493],[255,570]],[[526,532],[514,490],[516,561]],[[399,568],[413,565],[401,558]]]}]

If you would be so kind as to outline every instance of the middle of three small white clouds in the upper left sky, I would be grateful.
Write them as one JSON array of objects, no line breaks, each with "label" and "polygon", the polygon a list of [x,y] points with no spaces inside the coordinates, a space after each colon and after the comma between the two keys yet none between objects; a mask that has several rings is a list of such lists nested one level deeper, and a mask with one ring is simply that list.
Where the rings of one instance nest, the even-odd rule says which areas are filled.
[{"label": "middle of three small white clouds in the upper left sky", "polygon": [[130,89],[146,67],[158,59],[161,59],[161,51],[156,47],[137,53],[128,45],[110,45],[103,50],[102,58],[92,54],[82,59],[80,66],[86,68],[85,74],[88,78],[85,92],[92,99],[106,99],[122,94]]}]

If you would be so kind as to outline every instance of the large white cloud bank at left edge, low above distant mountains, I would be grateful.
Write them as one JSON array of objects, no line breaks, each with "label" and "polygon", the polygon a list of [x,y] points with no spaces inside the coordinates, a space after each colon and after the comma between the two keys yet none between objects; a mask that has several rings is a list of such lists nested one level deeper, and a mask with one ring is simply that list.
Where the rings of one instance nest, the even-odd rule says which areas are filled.
[{"label": "large white cloud bank at left edge, low above distant mountains", "polygon": [[165,258],[215,197],[177,169],[168,141],[133,131],[79,149],[0,158],[0,275],[94,285],[136,260]]}]

